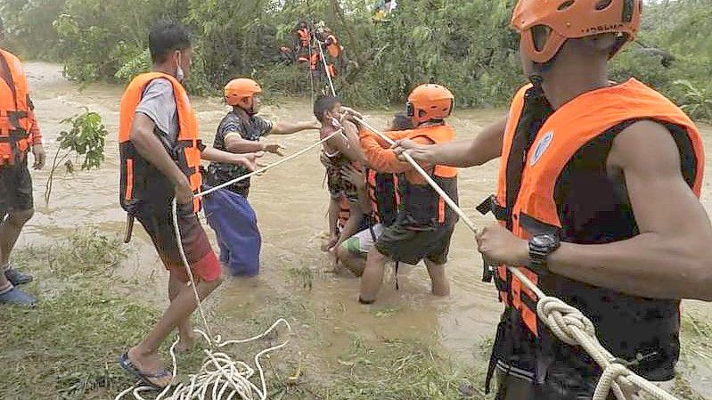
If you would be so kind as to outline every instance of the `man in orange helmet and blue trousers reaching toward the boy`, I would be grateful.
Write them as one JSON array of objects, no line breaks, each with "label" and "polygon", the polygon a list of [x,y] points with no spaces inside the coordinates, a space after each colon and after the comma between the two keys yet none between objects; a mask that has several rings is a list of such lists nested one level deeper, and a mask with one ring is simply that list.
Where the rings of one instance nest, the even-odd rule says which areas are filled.
[{"label": "man in orange helmet and blue trousers reaching toward the boy", "polygon": [[[252,79],[233,79],[225,86],[225,102],[233,107],[217,127],[213,147],[233,153],[266,151],[282,155],[282,146],[260,142],[266,135],[291,135],[317,129],[316,121],[273,123],[259,117],[262,88]],[[210,186],[225,184],[247,174],[243,167],[212,162],[208,168]],[[247,201],[250,179],[242,180],[206,198],[206,215],[217,234],[220,260],[233,275],[253,276],[259,272],[261,239],[257,216]]]}]

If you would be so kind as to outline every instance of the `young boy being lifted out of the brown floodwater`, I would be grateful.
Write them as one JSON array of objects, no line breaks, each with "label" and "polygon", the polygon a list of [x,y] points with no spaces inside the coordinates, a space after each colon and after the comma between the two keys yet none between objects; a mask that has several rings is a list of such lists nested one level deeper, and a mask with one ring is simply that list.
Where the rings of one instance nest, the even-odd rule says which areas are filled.
[{"label": "young boy being lifted out of the brown floodwater", "polygon": [[[325,246],[327,249],[338,249],[342,241],[358,232],[358,228],[364,219],[363,212],[353,212],[361,210],[358,199],[356,185],[344,179],[344,168],[356,166],[355,163],[365,165],[364,151],[358,143],[356,127],[349,121],[342,125],[343,112],[340,100],[331,95],[320,97],[314,104],[314,115],[322,124],[320,135],[323,138],[340,131],[339,134],[323,144],[323,161],[326,167],[326,178],[331,195],[329,205],[329,241]],[[352,210],[348,222],[343,230],[338,229],[338,219],[340,212],[340,198],[345,197],[348,201],[348,208]]]}]

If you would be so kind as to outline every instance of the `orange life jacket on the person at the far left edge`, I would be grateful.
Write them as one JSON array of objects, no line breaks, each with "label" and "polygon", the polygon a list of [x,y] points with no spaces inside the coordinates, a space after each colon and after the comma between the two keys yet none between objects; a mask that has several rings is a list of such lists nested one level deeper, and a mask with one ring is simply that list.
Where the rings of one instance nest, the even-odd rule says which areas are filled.
[{"label": "orange life jacket on the person at the far left edge", "polygon": [[[0,49],[12,84],[0,78],[0,167],[25,158],[29,150],[29,91],[20,60]],[[12,85],[12,86],[11,86]]]}]

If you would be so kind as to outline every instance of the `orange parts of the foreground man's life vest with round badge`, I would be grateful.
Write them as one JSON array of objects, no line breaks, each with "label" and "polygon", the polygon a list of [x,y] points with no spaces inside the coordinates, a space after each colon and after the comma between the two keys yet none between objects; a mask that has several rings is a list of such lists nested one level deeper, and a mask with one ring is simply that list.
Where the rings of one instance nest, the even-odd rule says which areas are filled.
[{"label": "orange parts of the foreground man's life vest with round badge", "polygon": [[[536,233],[559,234],[562,227],[569,223],[560,220],[560,209],[555,200],[557,181],[562,172],[574,159],[577,151],[603,135],[618,134],[627,126],[625,124],[636,120],[651,119],[680,128],[680,137],[675,137],[675,140],[685,164],[683,175],[695,195],[700,196],[704,171],[700,133],[692,120],[663,95],[635,79],[622,85],[581,94],[559,110],[555,110],[536,132],[532,131],[533,134],[536,133],[536,137],[529,144],[530,150],[524,150],[526,156],[520,159],[511,154],[512,144],[517,140],[515,135],[518,131],[524,132],[528,127],[526,123],[522,125],[522,120],[525,118],[525,103],[531,94],[530,90],[534,89],[525,86],[512,102],[503,139],[497,194],[492,200],[492,210],[496,218],[516,236],[528,239]],[[517,167],[512,167],[518,162],[524,163],[523,166],[520,165],[520,171]],[[518,180],[519,184],[516,182]],[[605,224],[604,221],[602,223]],[[524,267],[520,270],[539,286],[549,279],[548,276],[556,276],[540,276]],[[528,330],[538,336],[543,325],[539,324],[536,316],[536,295],[512,276],[504,265],[497,267],[495,283],[500,300],[519,313]],[[543,289],[556,290],[556,286],[547,283]],[[634,314],[634,310],[629,312]],[[644,319],[642,316],[641,321]]]}]

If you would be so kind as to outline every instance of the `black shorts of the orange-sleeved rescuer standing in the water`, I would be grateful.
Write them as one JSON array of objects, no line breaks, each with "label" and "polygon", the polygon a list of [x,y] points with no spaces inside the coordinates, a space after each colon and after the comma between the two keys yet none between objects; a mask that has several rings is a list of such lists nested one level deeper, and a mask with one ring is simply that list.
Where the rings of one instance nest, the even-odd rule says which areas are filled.
[{"label": "black shorts of the orange-sleeved rescuer standing in the water", "polygon": [[454,224],[439,225],[431,230],[414,230],[396,222],[383,231],[375,247],[393,261],[416,265],[426,258],[443,265],[447,262],[453,233]]}]

